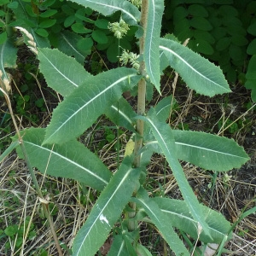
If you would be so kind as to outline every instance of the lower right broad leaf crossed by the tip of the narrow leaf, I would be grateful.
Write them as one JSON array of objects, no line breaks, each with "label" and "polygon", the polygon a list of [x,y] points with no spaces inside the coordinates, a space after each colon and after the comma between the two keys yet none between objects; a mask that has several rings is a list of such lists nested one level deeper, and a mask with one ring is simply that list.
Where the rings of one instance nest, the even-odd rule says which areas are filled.
[{"label": "lower right broad leaf crossed by the tip of the narrow leaf", "polygon": [[[183,230],[194,239],[197,239],[197,222],[189,213],[189,207],[185,201],[162,197],[154,197],[152,200],[157,203],[157,205],[160,207],[160,210],[166,215],[169,221],[172,222],[173,226],[179,230]],[[202,231],[199,240],[205,243],[220,243],[223,240],[227,241],[227,234],[230,230],[230,223],[221,213],[213,211],[212,209],[203,205],[200,205],[200,208],[201,212],[204,212],[212,238],[207,236],[205,232]]]}]

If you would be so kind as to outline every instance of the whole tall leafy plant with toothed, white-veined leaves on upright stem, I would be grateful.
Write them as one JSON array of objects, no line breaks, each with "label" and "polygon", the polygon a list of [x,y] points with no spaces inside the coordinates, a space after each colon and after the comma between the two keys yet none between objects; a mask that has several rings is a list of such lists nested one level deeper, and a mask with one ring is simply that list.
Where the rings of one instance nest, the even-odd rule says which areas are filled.
[{"label": "whole tall leafy plant with toothed, white-veined leaves on upright stem", "polygon": [[[195,240],[223,246],[230,238],[230,223],[197,201],[178,160],[225,172],[245,163],[247,154],[225,137],[172,130],[166,124],[172,102],[169,97],[145,113],[147,84],[154,84],[160,92],[160,73],[164,67],[173,67],[190,88],[206,96],[230,92],[223,73],[175,38],[160,38],[163,0],[143,0],[141,11],[126,0],[74,2],[102,15],[120,11],[126,24],[137,26],[141,62],[139,70],[118,67],[92,76],[58,49],[37,48],[28,41],[38,55],[47,84],[64,100],[55,108],[47,128],[21,132],[20,143],[26,150],[26,159],[40,172],[73,178],[101,192],[73,241],[73,255],[95,255],[110,233],[113,244],[108,255],[151,255],[138,242],[137,223],[141,221],[153,224],[177,255],[190,253],[174,227]],[[122,97],[124,91],[136,86],[137,113]],[[116,125],[136,134],[132,154],[125,156],[114,173],[77,141],[103,113]],[[15,147],[17,140],[14,137]],[[17,152],[24,158],[19,147]],[[165,155],[183,201],[148,196],[145,177],[154,152]]]}]

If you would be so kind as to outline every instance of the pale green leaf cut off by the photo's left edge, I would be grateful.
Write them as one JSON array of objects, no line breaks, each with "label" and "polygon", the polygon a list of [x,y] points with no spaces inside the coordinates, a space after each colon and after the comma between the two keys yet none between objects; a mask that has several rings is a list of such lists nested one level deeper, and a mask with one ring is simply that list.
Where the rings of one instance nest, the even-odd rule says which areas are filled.
[{"label": "pale green leaf cut off by the photo's left edge", "polygon": [[5,67],[17,67],[17,49],[10,40],[0,44],[0,70],[3,72],[2,79],[9,80],[9,74],[5,72]]}]

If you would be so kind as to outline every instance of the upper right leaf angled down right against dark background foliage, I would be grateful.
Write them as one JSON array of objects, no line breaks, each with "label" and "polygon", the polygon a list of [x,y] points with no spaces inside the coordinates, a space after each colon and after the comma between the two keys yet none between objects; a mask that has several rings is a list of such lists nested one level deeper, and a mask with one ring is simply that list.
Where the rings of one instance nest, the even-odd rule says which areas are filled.
[{"label": "upper right leaf angled down right against dark background foliage", "polygon": [[219,67],[175,41],[161,38],[160,49],[187,85],[206,96],[230,92]]}]

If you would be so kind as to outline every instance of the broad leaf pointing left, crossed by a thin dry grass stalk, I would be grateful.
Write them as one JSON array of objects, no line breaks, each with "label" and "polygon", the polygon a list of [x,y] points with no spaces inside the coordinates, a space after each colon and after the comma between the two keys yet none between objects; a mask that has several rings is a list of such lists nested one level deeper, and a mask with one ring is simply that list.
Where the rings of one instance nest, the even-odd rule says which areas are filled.
[{"label": "broad leaf pointing left, crossed by a thin dry grass stalk", "polygon": [[[30,128],[21,131],[28,160],[42,173],[54,177],[73,178],[91,188],[102,190],[112,176],[102,160],[76,140],[60,145],[42,146],[45,129]],[[14,137],[16,139],[16,136]],[[21,148],[17,154],[24,159]]]}]

